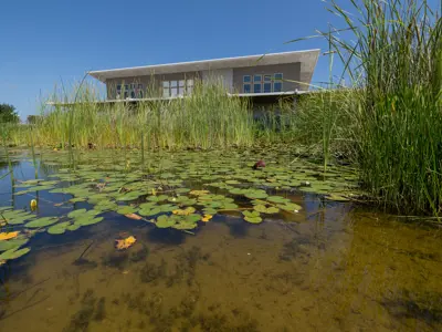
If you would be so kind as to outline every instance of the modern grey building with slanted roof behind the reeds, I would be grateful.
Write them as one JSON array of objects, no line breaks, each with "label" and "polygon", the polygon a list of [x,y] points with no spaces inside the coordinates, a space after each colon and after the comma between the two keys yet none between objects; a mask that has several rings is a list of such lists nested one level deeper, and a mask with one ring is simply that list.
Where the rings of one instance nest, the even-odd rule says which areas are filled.
[{"label": "modern grey building with slanted roof behind the reeds", "polygon": [[218,82],[232,95],[274,101],[308,91],[319,50],[270,53],[92,71],[106,84],[107,101],[176,98],[197,82]]}]

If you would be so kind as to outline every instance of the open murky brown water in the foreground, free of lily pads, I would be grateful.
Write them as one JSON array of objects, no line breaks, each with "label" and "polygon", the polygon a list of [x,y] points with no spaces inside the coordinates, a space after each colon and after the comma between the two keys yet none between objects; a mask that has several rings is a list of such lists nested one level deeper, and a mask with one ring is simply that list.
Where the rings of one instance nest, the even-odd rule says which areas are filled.
[{"label": "open murky brown water in the foreground, free of lily pads", "polygon": [[441,231],[313,197],[292,222],[39,234],[1,267],[0,331],[442,331]]}]

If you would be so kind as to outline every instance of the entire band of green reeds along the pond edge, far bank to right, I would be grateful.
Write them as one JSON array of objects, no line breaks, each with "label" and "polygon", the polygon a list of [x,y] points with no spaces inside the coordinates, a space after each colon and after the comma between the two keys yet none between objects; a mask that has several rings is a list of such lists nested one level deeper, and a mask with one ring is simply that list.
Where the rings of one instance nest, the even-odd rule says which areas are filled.
[{"label": "entire band of green reeds along the pond edge, far bank to right", "polygon": [[[351,1],[355,15],[328,2],[346,27],[318,32],[343,64],[338,82],[254,118],[251,105],[219,86],[177,101],[101,106],[81,84],[73,105],[44,105],[32,125],[2,125],[3,144],[56,148],[229,149],[284,145],[344,159],[361,187],[399,214],[442,208],[442,21],[425,0]],[[309,39],[309,38],[308,38]],[[293,42],[296,42],[295,40]],[[52,101],[67,101],[67,93]],[[72,98],[71,98],[72,100]],[[69,110],[69,111],[67,111]]]}]

